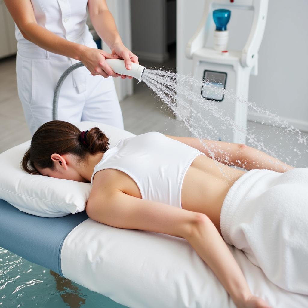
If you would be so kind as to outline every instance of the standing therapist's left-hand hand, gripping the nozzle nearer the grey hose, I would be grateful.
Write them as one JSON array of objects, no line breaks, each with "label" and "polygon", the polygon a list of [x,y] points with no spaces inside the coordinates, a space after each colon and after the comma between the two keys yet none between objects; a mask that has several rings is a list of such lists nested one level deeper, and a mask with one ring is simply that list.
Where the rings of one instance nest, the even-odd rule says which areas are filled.
[{"label": "standing therapist's left-hand hand, gripping the nozzle nearer the grey hose", "polygon": [[118,77],[111,67],[107,64],[105,59],[119,59],[118,55],[108,54],[106,51],[96,48],[86,47],[83,49],[79,60],[84,64],[90,73],[95,75],[101,75],[104,78],[109,76]]}]

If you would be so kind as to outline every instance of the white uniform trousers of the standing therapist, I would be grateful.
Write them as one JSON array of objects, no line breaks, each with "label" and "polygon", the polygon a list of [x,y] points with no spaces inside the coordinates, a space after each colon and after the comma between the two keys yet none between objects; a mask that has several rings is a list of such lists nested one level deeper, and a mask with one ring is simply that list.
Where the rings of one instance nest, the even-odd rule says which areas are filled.
[{"label": "white uniform trousers of the standing therapist", "polygon": [[[89,45],[96,46],[94,41]],[[63,72],[76,62],[39,47],[18,46],[18,95],[32,135],[43,123],[52,120],[56,84]],[[68,75],[60,90],[58,120],[95,121],[123,129],[113,77],[92,76],[85,67]]]}]

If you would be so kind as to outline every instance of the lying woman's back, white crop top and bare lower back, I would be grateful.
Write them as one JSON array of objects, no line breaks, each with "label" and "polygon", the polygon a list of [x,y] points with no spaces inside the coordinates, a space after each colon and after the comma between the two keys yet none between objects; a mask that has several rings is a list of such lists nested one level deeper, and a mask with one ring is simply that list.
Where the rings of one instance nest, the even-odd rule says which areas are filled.
[{"label": "lying woman's back, white crop top and bare lower back", "polygon": [[[158,132],[120,140],[107,150],[94,168],[93,184],[95,173],[100,171],[103,176],[105,169],[114,169],[113,173],[119,176],[115,189],[134,197],[205,213],[218,230],[225,195],[243,174]],[[93,185],[94,194],[100,186]]]}]

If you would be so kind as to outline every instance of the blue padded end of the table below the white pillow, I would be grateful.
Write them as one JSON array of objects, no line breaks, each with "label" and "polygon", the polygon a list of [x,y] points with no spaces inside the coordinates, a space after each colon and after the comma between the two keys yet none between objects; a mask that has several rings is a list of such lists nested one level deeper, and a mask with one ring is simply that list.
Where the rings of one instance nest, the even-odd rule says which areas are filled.
[{"label": "blue padded end of the table below the white pillow", "polygon": [[63,276],[63,241],[87,218],[85,211],[58,218],[39,217],[0,199],[0,246]]}]

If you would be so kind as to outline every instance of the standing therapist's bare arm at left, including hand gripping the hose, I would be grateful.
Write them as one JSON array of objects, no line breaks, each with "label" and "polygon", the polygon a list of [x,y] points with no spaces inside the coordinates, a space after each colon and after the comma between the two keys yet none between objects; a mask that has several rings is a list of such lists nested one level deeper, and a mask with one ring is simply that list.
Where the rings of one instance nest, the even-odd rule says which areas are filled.
[{"label": "standing therapist's bare arm at left, including hand gripping the hose", "polygon": [[70,42],[39,26],[30,0],[4,0],[4,2],[18,29],[28,41],[55,54],[82,61],[92,75],[118,76],[105,62],[106,58],[117,59],[117,55]]}]

